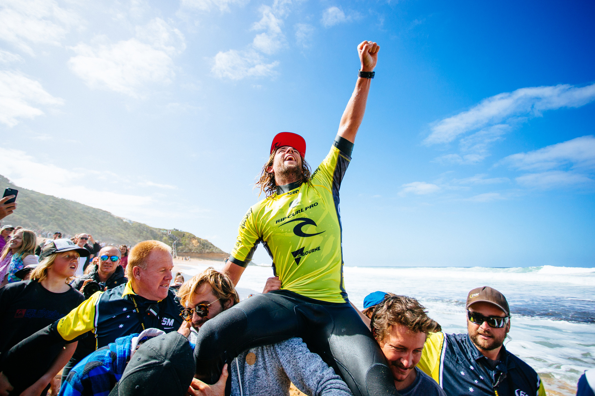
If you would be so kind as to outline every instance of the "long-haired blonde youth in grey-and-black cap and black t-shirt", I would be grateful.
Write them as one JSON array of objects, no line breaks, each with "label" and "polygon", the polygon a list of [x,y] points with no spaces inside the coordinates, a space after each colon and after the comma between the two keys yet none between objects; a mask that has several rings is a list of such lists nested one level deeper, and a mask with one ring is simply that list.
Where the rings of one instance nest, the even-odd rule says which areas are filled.
[{"label": "long-haired blonde youth in grey-and-black cap and black t-shirt", "polygon": [[[53,240],[43,248],[41,262],[32,271],[30,280],[10,283],[0,289],[0,354],[58,321],[84,301],[83,294],[68,282],[79,266],[79,256],[86,255],[89,252],[70,239]],[[12,383],[18,391],[14,394],[45,394],[49,382],[68,362],[76,346],[76,342],[66,344],[58,359],[39,378],[29,376],[23,378],[23,383]]]}]

